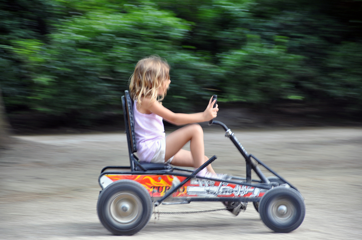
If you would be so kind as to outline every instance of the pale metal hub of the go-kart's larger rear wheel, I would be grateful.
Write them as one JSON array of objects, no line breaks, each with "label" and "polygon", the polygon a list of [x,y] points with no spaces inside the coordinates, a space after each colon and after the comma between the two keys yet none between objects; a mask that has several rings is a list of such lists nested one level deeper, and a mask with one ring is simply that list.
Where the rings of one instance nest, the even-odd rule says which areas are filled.
[{"label": "pale metal hub of the go-kart's larger rear wheel", "polygon": [[119,223],[127,224],[136,220],[142,213],[142,204],[132,193],[119,193],[110,201],[110,214]]}]

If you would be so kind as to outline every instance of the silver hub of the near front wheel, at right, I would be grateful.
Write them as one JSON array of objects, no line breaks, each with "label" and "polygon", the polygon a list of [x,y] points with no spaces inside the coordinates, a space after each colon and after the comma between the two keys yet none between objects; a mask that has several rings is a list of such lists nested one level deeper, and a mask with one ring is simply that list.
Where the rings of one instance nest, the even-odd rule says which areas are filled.
[{"label": "silver hub of the near front wheel, at right", "polygon": [[270,213],[273,218],[279,223],[285,223],[291,220],[295,214],[295,206],[292,202],[285,199],[275,200],[271,203]]}]

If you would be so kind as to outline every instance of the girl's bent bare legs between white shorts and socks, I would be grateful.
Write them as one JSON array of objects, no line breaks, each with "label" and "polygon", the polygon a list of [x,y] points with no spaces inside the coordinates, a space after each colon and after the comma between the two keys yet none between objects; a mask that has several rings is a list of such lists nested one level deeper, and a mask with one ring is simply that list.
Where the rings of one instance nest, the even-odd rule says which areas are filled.
[{"label": "girl's bent bare legs between white shorts and socks", "polygon": [[[191,151],[181,149],[188,141],[190,141]],[[172,156],[174,156],[172,165],[180,167],[198,168],[208,160],[205,156],[203,131],[199,124],[187,125],[166,137],[165,159]],[[207,170],[215,173],[210,164]]]}]

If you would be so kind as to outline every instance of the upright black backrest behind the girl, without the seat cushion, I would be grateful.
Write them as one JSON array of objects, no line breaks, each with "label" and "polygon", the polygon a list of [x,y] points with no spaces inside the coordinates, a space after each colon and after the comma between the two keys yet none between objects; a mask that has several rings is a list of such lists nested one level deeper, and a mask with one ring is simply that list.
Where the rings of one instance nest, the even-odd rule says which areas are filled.
[{"label": "upright black backrest behind the girl, without the seat cushion", "polygon": [[129,154],[131,155],[137,151],[137,148],[134,131],[133,101],[128,90],[126,90],[125,95],[122,96],[122,108],[123,116],[125,117],[128,150]]}]

